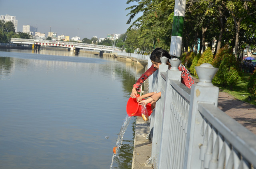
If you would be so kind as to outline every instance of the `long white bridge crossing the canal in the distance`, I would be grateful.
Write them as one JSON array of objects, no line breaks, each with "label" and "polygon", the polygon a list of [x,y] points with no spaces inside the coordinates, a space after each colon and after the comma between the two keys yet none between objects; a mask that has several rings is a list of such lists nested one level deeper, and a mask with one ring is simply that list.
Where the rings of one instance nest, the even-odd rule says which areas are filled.
[{"label": "long white bridge crossing the canal in the distance", "polygon": [[117,47],[104,46],[104,45],[94,45],[88,43],[75,43],[75,42],[66,42],[66,41],[50,41],[50,40],[38,40],[38,39],[20,39],[12,38],[11,43],[16,44],[30,44],[34,45],[35,50],[40,50],[41,46],[54,46],[54,47],[65,47],[68,48],[68,51],[73,51],[74,53],[79,53],[80,49],[90,49],[98,51],[113,51]]}]

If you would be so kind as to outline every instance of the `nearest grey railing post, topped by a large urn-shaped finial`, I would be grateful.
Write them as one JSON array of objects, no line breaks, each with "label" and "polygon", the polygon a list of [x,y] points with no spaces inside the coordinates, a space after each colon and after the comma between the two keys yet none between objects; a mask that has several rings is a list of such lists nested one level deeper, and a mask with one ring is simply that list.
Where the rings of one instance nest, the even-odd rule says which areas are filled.
[{"label": "nearest grey railing post, topped by a large urn-shaped finial", "polygon": [[188,111],[188,132],[183,169],[200,169],[200,151],[203,151],[202,135],[200,134],[203,123],[202,115],[198,112],[198,102],[207,102],[218,106],[219,88],[212,84],[212,79],[218,68],[209,63],[195,67],[199,83],[192,85],[190,94],[190,107]]}]

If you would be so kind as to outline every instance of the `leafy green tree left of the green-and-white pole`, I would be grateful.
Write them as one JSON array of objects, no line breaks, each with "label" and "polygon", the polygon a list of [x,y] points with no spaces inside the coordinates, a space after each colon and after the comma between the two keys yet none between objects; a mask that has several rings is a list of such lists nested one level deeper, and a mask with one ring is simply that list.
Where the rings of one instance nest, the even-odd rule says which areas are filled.
[{"label": "leafy green tree left of the green-and-white pole", "polygon": [[[130,2],[135,1],[137,0],[128,0],[126,3],[129,4]],[[133,32],[132,27],[139,33],[139,35],[137,35],[138,44],[134,45],[133,48],[131,48],[131,46],[129,48],[138,48],[140,51],[145,52],[152,51],[156,47],[169,50],[173,9],[174,2],[169,3],[169,1],[163,1],[158,3],[158,1],[154,0],[141,0],[138,2],[138,5],[126,8],[126,10],[130,10],[130,13],[128,14],[130,17],[127,24],[130,24],[131,20],[137,14],[143,12],[143,15],[132,22],[128,29],[128,36],[130,36],[130,31]]]}]

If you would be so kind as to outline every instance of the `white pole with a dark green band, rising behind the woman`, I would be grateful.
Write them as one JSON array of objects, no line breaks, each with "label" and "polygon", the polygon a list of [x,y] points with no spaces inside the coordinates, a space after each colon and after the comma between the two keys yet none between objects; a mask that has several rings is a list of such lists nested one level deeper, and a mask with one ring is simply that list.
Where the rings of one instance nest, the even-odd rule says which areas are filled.
[{"label": "white pole with a dark green band, rising behind the woman", "polygon": [[186,0],[175,0],[170,54],[180,57]]}]

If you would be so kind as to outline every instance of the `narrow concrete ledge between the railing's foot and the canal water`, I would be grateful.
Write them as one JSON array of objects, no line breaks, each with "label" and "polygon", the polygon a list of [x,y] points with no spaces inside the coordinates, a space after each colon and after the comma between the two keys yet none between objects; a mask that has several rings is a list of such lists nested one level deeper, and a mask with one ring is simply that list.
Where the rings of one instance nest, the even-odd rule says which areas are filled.
[{"label": "narrow concrete ledge between the railing's foot and the canal water", "polygon": [[146,165],[151,157],[152,143],[146,139],[150,131],[150,123],[144,122],[142,117],[137,117],[134,136],[134,150],[132,155],[132,169],[149,169]]}]

